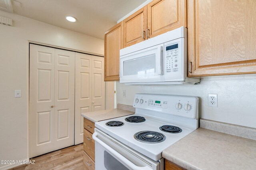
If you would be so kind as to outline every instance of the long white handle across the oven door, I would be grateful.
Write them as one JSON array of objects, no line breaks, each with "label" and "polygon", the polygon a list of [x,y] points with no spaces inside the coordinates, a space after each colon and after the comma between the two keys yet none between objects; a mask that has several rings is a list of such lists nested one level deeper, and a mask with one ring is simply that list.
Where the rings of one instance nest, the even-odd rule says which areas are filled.
[{"label": "long white handle across the oven door", "polygon": [[136,166],[134,163],[132,163],[130,160],[128,160],[127,158],[125,158],[124,156],[122,156],[120,153],[118,153],[116,150],[112,149],[110,146],[108,146],[106,143],[102,142],[98,137],[98,133],[94,132],[92,135],[92,138],[98,142],[100,145],[102,145],[102,147],[104,147],[105,149],[107,149],[110,153],[112,153],[114,156],[116,156],[118,159],[120,159],[122,162],[124,162],[124,164],[126,164],[127,166],[129,166],[130,168],[132,168],[133,170],[152,170],[152,168],[148,167],[148,166]]}]

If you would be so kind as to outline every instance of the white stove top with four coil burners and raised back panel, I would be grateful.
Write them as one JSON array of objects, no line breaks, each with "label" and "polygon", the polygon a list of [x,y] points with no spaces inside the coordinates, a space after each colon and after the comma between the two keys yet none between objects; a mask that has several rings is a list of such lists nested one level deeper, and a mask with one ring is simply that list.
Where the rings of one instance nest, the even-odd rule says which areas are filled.
[{"label": "white stove top with four coil burners and raised back panel", "polygon": [[[99,121],[95,123],[95,127],[131,149],[156,161],[162,158],[162,151],[164,149],[198,128],[198,98],[172,96],[172,100],[170,100],[168,99],[170,98],[169,95],[136,95],[134,98],[136,113],[134,115]],[[140,101],[136,100],[138,98],[144,101],[139,103]],[[157,100],[153,100],[154,98]],[[158,106],[152,106],[152,102],[154,101],[157,103],[160,102],[162,105],[163,103],[167,103],[167,105],[164,104],[163,107],[160,107],[159,104]],[[176,108],[177,103],[185,106],[188,102],[191,107],[189,111],[186,109],[181,110],[180,107],[178,109]],[[134,118],[132,116],[140,116],[140,118]],[[129,122],[130,119],[138,122]],[[122,122],[120,123],[122,125],[106,125],[109,122]],[[174,131],[174,133],[169,133],[161,129]],[[145,133],[145,131],[152,131],[152,133]],[[140,139],[152,140],[152,143],[149,141],[142,142]]]}]

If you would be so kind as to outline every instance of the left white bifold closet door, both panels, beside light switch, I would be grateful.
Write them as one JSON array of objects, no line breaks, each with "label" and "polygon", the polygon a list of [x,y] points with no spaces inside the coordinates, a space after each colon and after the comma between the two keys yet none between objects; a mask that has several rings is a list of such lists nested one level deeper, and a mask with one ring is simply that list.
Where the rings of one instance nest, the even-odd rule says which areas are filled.
[{"label": "left white bifold closet door, both panels, beside light switch", "polygon": [[30,45],[30,158],[74,145],[75,53]]}]

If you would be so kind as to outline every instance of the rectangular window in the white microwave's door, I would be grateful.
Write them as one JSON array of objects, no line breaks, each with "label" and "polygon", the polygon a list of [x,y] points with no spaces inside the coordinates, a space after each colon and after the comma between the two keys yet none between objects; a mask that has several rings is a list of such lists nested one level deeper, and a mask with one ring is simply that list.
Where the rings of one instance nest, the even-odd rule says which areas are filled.
[{"label": "rectangular window in the white microwave's door", "polygon": [[124,61],[124,76],[154,76],[156,72],[156,54]]}]

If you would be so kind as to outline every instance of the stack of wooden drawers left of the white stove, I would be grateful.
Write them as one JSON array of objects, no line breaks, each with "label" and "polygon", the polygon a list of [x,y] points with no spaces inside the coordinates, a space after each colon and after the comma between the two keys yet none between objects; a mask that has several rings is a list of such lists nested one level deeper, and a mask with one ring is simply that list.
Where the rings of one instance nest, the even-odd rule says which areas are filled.
[{"label": "stack of wooden drawers left of the white stove", "polygon": [[84,166],[86,170],[95,170],[94,122],[84,118]]}]

